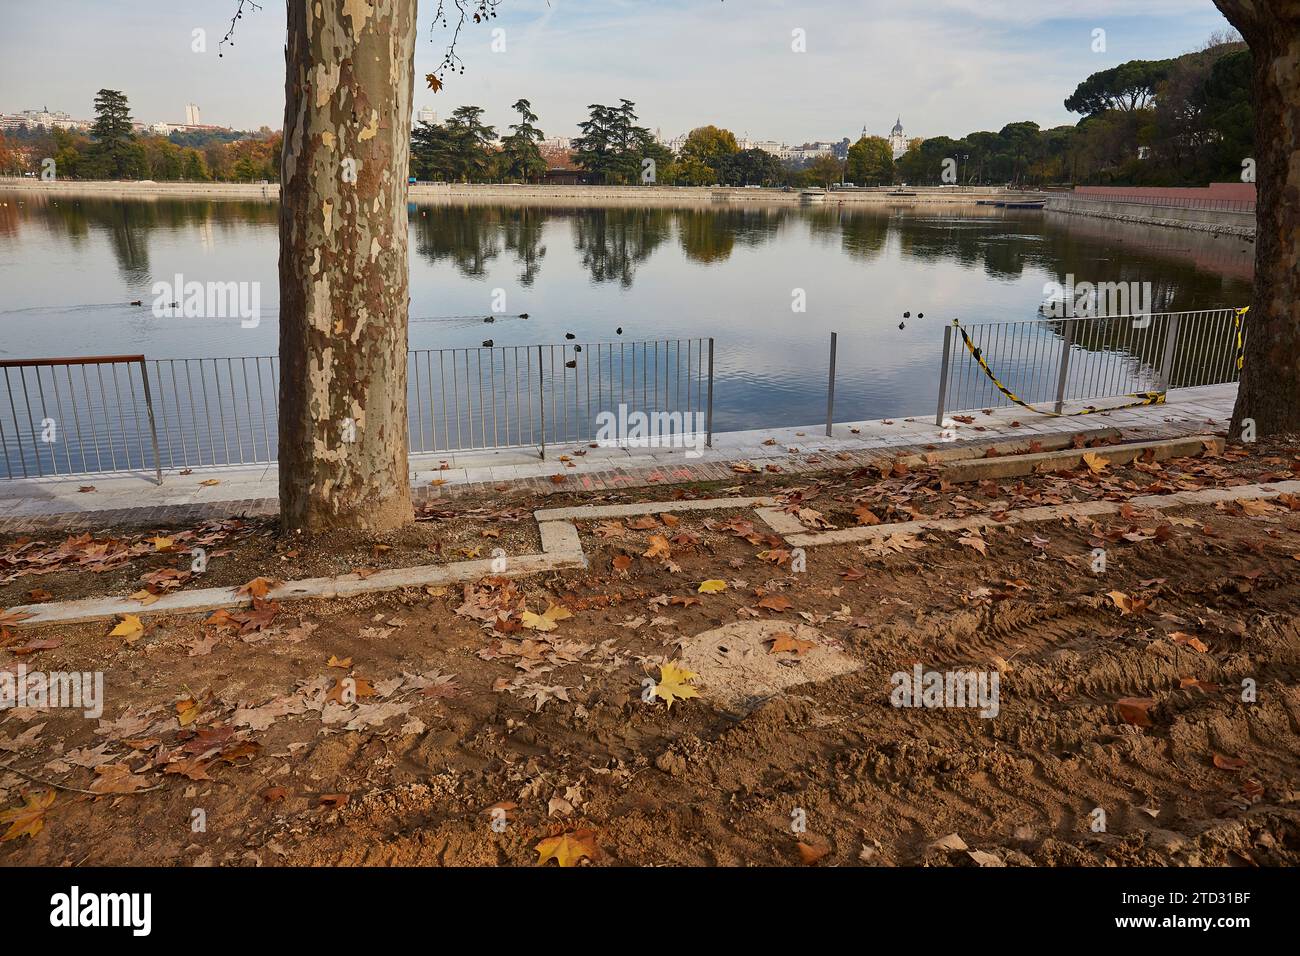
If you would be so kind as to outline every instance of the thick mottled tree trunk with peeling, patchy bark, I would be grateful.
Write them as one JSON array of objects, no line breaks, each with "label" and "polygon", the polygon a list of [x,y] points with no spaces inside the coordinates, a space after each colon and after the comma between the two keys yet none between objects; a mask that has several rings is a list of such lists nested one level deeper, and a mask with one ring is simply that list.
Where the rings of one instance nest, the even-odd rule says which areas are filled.
[{"label": "thick mottled tree trunk with peeling, patchy bark", "polygon": [[407,166],[416,0],[287,0],[280,514],[411,520]]}]

